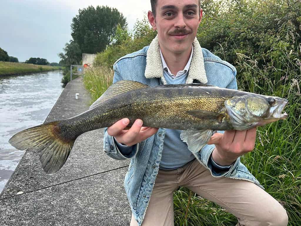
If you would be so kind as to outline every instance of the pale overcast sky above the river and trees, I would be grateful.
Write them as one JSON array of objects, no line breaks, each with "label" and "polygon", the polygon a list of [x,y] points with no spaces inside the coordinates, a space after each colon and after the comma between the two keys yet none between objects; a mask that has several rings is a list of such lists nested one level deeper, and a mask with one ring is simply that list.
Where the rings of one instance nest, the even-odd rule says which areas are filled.
[{"label": "pale overcast sky above the river and trees", "polygon": [[151,9],[149,0],[0,0],[0,47],[20,62],[30,57],[59,62],[72,18],[89,5],[117,8],[130,29]]}]

